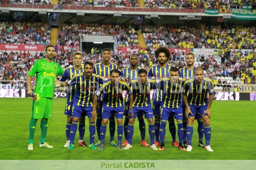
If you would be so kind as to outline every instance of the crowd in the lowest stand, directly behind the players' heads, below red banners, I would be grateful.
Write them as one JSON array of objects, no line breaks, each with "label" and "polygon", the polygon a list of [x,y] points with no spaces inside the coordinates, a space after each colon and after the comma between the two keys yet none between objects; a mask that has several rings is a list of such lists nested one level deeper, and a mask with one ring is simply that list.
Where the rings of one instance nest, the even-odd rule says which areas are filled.
[{"label": "crowd in the lowest stand, directly behind the players' heads, below red banners", "polygon": [[[139,63],[141,68],[148,69],[151,65],[156,64],[157,60],[154,57],[154,50],[148,48],[140,51],[131,50],[131,53],[139,56]],[[239,53],[239,51],[236,51]],[[83,62],[90,60],[93,63],[102,61],[102,56],[98,52],[93,54],[82,52]],[[118,68],[130,67],[129,56],[130,54],[122,54],[122,51],[111,49],[111,62],[116,63]],[[195,65],[204,68],[204,76],[212,78],[216,87],[220,86],[224,90],[233,88],[236,84],[255,84],[256,80],[256,52],[251,50],[249,54],[251,57],[246,59],[241,58],[244,54],[240,54],[240,57],[233,62],[227,60],[225,57],[224,62],[220,62],[219,59],[215,59],[213,55],[204,57],[200,55],[195,58]],[[230,58],[233,53],[230,53]],[[0,80],[1,83],[12,83],[19,88],[26,88],[25,77],[35,60],[44,57],[43,51],[31,54],[29,51],[9,52],[0,51]],[[144,60],[146,58],[146,62]],[[72,54],[70,52],[61,51],[55,57],[55,61],[61,65],[62,68],[67,68],[73,65]],[[182,68],[186,65],[186,62],[181,58],[174,60],[173,54],[168,63],[176,65],[177,68]],[[34,79],[35,80],[35,79]],[[228,91],[227,90],[227,91]]]}]

